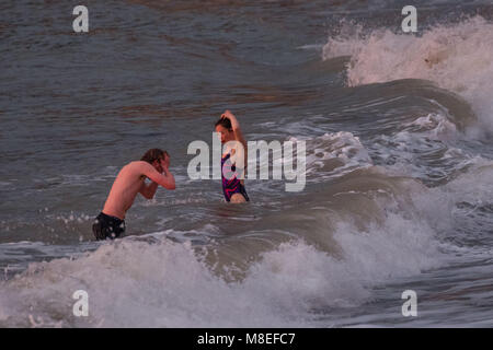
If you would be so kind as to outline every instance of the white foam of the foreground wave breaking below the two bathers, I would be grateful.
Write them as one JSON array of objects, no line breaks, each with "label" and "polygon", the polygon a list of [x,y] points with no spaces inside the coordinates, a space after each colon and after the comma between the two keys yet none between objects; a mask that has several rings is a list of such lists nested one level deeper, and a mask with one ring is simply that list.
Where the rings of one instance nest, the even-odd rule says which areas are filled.
[{"label": "white foam of the foreground wave breaking below the two bathers", "polygon": [[[339,257],[300,237],[264,253],[234,282],[213,273],[186,242],[124,238],[77,259],[32,264],[2,282],[0,325],[310,326],[320,312],[368,301],[376,283],[438,266],[435,234],[425,220],[388,210],[367,230],[339,224]],[[87,319],[72,315],[80,289],[90,298]]]}]

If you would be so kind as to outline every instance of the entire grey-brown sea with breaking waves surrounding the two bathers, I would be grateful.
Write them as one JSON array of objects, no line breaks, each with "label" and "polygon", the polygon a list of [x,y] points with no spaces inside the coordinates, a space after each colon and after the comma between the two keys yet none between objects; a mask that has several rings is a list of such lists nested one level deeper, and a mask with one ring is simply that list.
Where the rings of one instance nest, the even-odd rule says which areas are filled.
[{"label": "entire grey-brown sea with breaking waves surrounding the two bathers", "polygon": [[[88,34],[77,2],[0,4],[0,325],[492,326],[493,7],[417,2],[412,35],[404,2],[89,1]],[[307,142],[303,191],[188,178],[226,108]],[[176,190],[93,242],[154,147]]]}]

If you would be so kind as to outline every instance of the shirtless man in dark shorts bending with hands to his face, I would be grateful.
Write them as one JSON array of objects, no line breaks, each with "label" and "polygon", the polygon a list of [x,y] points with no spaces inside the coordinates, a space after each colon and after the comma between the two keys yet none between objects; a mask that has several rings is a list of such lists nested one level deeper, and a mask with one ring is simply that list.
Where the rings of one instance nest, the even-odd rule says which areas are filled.
[{"label": "shirtless man in dark shorts bending with hands to his face", "polygon": [[[125,232],[125,214],[134,203],[137,194],[152,199],[158,186],[174,189],[174,177],[168,170],[170,155],[160,149],[151,149],[140,161],[125,165],[113,183],[103,211],[92,225],[96,240],[116,238]],[[146,178],[151,183],[146,184]]]}]

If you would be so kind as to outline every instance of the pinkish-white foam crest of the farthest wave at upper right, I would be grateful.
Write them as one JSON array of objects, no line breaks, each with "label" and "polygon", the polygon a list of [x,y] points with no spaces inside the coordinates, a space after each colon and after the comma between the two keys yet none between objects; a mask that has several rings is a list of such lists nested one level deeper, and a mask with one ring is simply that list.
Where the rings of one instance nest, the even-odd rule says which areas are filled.
[{"label": "pinkish-white foam crest of the farthest wave at upper right", "polygon": [[463,96],[493,131],[493,24],[475,16],[436,26],[417,37],[389,30],[369,35],[354,31],[329,38],[323,59],[352,56],[347,69],[352,86],[398,79],[426,79]]}]

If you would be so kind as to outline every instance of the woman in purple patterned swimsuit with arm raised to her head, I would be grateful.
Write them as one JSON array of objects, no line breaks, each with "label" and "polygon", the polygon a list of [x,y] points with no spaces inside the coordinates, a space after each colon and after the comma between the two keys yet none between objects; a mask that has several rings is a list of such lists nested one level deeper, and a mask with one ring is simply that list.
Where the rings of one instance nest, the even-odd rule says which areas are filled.
[{"label": "woman in purple patterned swimsuit with arm raised to her head", "polygon": [[216,132],[221,144],[226,145],[221,156],[222,194],[228,202],[249,201],[244,189],[244,171],[246,168],[246,141],[240,129],[240,122],[229,110],[216,121]]}]

